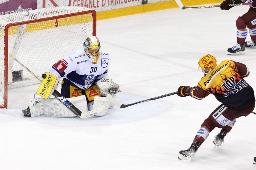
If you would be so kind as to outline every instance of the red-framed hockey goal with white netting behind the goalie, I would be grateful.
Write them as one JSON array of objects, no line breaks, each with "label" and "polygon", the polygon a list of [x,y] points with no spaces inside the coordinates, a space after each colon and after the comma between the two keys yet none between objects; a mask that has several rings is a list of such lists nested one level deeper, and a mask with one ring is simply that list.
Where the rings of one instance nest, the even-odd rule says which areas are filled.
[{"label": "red-framed hockey goal with white netting behind the goalie", "polygon": [[8,88],[40,83],[43,73],[83,48],[90,35],[96,36],[96,12],[89,8],[62,6],[0,16],[0,108],[7,108]]}]

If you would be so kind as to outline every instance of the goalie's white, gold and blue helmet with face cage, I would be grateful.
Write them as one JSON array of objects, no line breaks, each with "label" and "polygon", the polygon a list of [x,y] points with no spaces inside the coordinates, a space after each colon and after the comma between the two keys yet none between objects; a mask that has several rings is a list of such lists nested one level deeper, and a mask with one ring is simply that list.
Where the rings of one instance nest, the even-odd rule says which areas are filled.
[{"label": "goalie's white, gold and blue helmet with face cage", "polygon": [[100,44],[99,39],[95,36],[89,36],[84,41],[84,51],[89,54],[88,57],[92,63],[96,62],[99,49],[101,48]]}]

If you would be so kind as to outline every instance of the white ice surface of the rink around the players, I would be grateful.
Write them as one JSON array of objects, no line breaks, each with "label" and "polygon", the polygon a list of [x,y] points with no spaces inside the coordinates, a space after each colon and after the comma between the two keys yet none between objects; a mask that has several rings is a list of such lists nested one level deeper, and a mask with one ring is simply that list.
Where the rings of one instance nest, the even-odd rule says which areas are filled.
[{"label": "white ice surface of the rink around the players", "polygon": [[[248,8],[175,8],[98,21],[101,48],[111,56],[108,75],[122,90],[116,100],[129,104],[181,85],[196,86],[203,76],[198,60],[206,54],[215,56],[217,64],[246,64],[250,76],[245,79],[255,89],[256,49],[226,54],[236,44],[235,21]],[[256,169],[254,114],[238,118],[218,150],[212,142],[220,131],[216,128],[191,162],[178,159],[221,104],[213,95],[204,100],[173,95],[88,119],[23,117],[21,110],[38,86],[9,90],[8,109],[0,110],[1,170]]]}]

